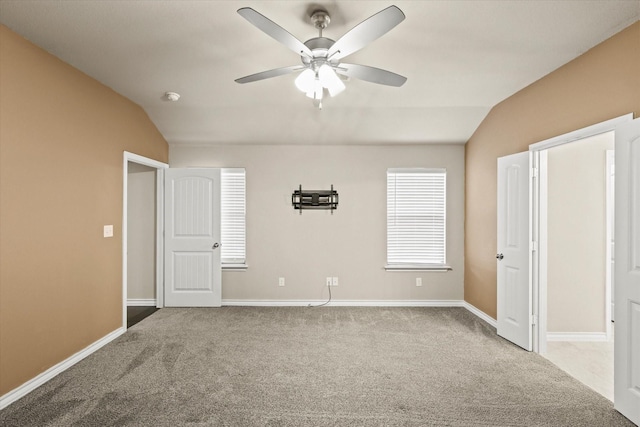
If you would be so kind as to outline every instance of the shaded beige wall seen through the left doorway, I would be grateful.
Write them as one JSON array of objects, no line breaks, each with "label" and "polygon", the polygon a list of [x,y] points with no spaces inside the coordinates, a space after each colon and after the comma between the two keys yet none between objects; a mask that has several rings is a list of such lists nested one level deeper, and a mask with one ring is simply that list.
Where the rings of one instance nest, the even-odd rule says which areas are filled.
[{"label": "shaded beige wall seen through the left doorway", "polygon": [[156,298],[156,169],[129,162],[127,298]]}]

